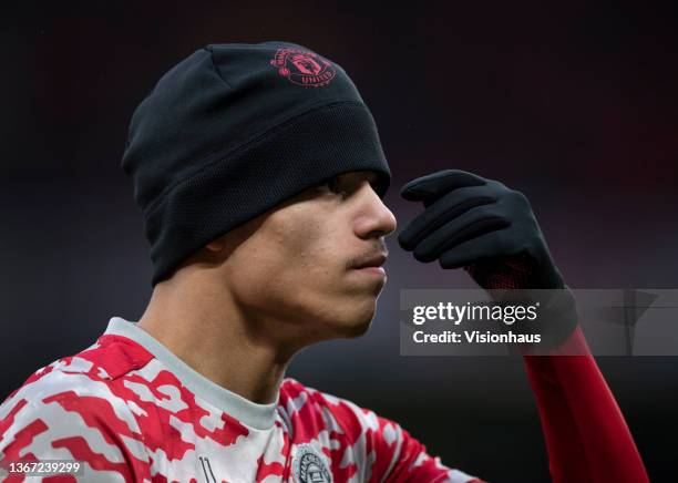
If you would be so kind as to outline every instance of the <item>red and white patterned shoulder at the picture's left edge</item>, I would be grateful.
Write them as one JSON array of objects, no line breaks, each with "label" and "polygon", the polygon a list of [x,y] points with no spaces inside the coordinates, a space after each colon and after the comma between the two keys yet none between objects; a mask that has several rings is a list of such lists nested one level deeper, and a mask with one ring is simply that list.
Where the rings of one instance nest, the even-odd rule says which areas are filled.
[{"label": "red and white patterned shoulder at the picture's left edge", "polygon": [[0,404],[0,460],[75,459],[111,471],[124,461],[145,463],[121,380],[150,358],[129,339],[102,336],[38,369]]}]

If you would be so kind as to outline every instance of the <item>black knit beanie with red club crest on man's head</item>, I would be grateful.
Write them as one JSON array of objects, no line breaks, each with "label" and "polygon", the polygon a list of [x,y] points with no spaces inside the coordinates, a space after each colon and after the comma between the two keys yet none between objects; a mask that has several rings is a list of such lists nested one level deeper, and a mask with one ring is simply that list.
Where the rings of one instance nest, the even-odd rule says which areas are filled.
[{"label": "black knit beanie with red club crest on man's head", "polygon": [[350,172],[391,173],[372,115],[337,63],[290,42],[213,44],[135,110],[122,168],[151,244],[152,286],[280,202]]}]

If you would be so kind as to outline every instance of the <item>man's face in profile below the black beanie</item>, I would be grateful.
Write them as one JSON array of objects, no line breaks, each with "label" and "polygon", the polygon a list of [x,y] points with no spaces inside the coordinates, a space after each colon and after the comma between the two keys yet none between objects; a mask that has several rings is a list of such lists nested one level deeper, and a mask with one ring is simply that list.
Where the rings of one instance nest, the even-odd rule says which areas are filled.
[{"label": "man's face in profile below the black beanie", "polygon": [[396,230],[374,179],[339,175],[225,235],[225,284],[249,320],[308,342],[367,331],[386,276],[356,266],[386,255]]}]

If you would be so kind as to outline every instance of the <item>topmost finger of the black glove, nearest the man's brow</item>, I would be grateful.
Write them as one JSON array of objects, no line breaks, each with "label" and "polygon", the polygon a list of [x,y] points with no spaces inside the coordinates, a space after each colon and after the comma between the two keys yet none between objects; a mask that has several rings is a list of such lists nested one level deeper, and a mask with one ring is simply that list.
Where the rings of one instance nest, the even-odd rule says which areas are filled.
[{"label": "topmost finger of the black glove, nearest the man's brow", "polygon": [[423,202],[424,206],[451,192],[468,186],[482,186],[487,179],[461,169],[443,169],[418,177],[400,189],[400,196],[409,202]]}]

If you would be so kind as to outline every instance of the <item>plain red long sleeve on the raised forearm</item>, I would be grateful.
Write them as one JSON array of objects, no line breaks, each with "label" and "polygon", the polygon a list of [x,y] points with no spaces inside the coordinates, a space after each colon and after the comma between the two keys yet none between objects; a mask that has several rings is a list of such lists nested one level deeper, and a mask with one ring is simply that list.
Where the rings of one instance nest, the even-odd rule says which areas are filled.
[{"label": "plain red long sleeve on the raised forearm", "polygon": [[567,353],[574,349],[581,356],[524,356],[553,481],[649,481],[624,415],[579,327],[565,345]]}]

